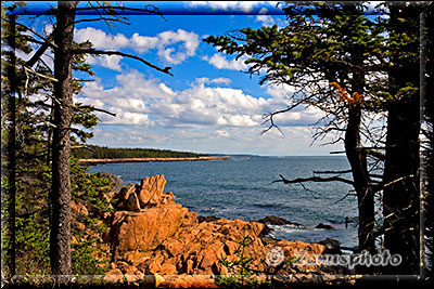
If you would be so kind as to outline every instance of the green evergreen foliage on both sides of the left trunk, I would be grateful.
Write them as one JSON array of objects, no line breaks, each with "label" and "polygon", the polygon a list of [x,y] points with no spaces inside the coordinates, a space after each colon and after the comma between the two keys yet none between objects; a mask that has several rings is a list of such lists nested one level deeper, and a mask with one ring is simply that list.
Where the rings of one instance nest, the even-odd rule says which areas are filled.
[{"label": "green evergreen foliage on both sides of the left trunk", "polygon": [[[5,168],[9,159],[2,158],[2,221],[9,216],[8,203],[12,202],[7,197],[15,195],[15,264],[17,275],[49,275],[49,238],[50,238],[50,191],[51,191],[51,137],[52,137],[52,104],[53,86],[46,78],[33,73],[25,73],[26,62],[18,54],[11,53],[7,49],[15,47],[16,52],[29,54],[33,51],[30,42],[38,43],[33,34],[24,34],[26,28],[20,25],[20,16],[16,16],[15,31],[9,14],[15,9],[25,5],[24,2],[14,2],[8,8],[1,3],[2,13],[2,156],[4,148],[13,137],[15,144],[15,192],[12,189]],[[15,37],[13,37],[15,36]],[[52,40],[52,36],[46,36]],[[74,43],[78,47],[78,43]],[[4,48],[4,49],[3,49]],[[73,70],[80,74],[93,75],[90,65],[85,62],[84,54],[76,54],[73,60]],[[12,65],[13,62],[16,65]],[[38,74],[52,76],[52,70],[43,63],[37,62],[33,70]],[[15,79],[17,94],[11,93],[11,79]],[[74,80],[73,90],[79,94],[82,89],[78,80]],[[34,94],[39,94],[39,101],[31,102]],[[11,121],[9,103],[15,104],[15,120]],[[92,137],[92,128],[97,124],[98,117],[91,106],[76,104],[73,107],[72,144],[80,144]],[[14,135],[11,134],[14,129]],[[71,178],[73,200],[84,205],[89,211],[88,215],[80,215],[73,220],[73,266],[74,274],[102,274],[106,271],[104,264],[107,258],[104,254],[105,246],[101,239],[106,231],[102,222],[111,207],[103,193],[108,188],[108,180],[99,179],[89,174],[76,160],[71,162]],[[3,199],[4,197],[4,199]],[[11,205],[12,207],[12,205]],[[74,219],[74,216],[73,216]],[[77,229],[80,222],[88,229],[87,234]],[[10,232],[2,225],[2,252],[12,248]],[[105,246],[105,247],[104,247]],[[3,260],[2,254],[2,260]],[[3,263],[2,263],[3,264]],[[3,267],[3,266],[2,266]],[[3,274],[3,270],[2,270]],[[3,276],[2,276],[3,277]]]}]

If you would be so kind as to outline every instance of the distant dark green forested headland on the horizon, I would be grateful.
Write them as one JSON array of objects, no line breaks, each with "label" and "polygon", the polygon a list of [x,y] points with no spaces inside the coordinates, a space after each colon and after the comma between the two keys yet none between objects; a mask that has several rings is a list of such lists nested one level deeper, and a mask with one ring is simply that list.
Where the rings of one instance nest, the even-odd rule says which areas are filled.
[{"label": "distant dark green forested headland on the horizon", "polygon": [[72,152],[78,159],[107,159],[107,158],[192,158],[206,157],[207,155],[191,152],[175,152],[155,148],[118,148],[88,145]]}]

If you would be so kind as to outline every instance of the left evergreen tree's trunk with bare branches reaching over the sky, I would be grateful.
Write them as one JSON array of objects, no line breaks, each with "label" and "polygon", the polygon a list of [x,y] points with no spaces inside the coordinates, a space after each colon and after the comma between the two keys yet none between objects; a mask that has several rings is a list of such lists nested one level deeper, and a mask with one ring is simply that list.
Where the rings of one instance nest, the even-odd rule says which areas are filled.
[{"label": "left evergreen tree's trunk with bare branches reaching over the sky", "polygon": [[[148,61],[138,57],[136,55],[117,52],[117,51],[100,51],[92,48],[90,42],[85,43],[74,43],[74,26],[79,21],[75,21],[75,15],[78,10],[98,10],[101,16],[97,19],[104,19],[107,24],[111,21],[119,21],[122,16],[118,15],[117,10],[128,11],[127,6],[113,6],[107,2],[97,2],[97,5],[89,4],[88,6],[77,8],[78,1],[69,1],[63,2],[60,1],[56,8],[52,8],[52,14],[55,16],[56,23],[53,26],[53,32],[49,36],[42,36],[38,34],[30,27],[27,27],[23,23],[10,21],[8,22],[11,26],[11,30],[16,29],[16,27],[21,27],[23,30],[28,30],[33,35],[36,35],[39,39],[35,39],[33,37],[25,38],[26,41],[30,41],[39,45],[39,49],[33,54],[31,58],[23,63],[18,69],[18,73],[10,74],[8,76],[8,80],[12,81],[17,79],[16,88],[18,91],[23,91],[24,93],[29,93],[29,77],[28,74],[31,73],[36,78],[35,82],[31,82],[35,88],[38,90],[44,91],[46,95],[49,100],[51,100],[51,104],[47,104],[47,102],[37,102],[33,105],[37,105],[40,107],[44,107],[49,109],[48,121],[42,124],[42,131],[47,133],[47,148],[48,148],[48,157],[47,162],[51,163],[50,173],[51,173],[51,188],[50,188],[50,262],[51,262],[51,273],[58,275],[60,281],[67,281],[68,276],[72,273],[72,263],[71,263],[71,147],[72,144],[84,141],[87,137],[91,136],[91,133],[76,130],[72,128],[74,121],[78,121],[82,127],[89,129],[97,123],[97,117],[90,113],[94,110],[101,110],[94,108],[92,106],[84,106],[80,104],[73,103],[73,94],[77,93],[81,86],[79,81],[73,79],[73,70],[84,70],[89,71],[90,66],[84,63],[84,55],[93,54],[93,55],[122,55],[126,57],[132,57],[135,60],[141,61],[145,65],[157,69],[162,73],[169,74],[169,67],[159,68]],[[117,9],[117,10],[116,10]],[[139,9],[139,11],[155,13],[158,14],[157,9],[152,5],[146,5],[144,9]],[[86,19],[80,19],[86,21]],[[11,39],[16,38],[16,34],[11,34]],[[13,60],[16,60],[15,55],[15,42],[11,41],[10,47],[12,48]],[[48,51],[51,50],[54,55],[54,71],[51,71],[49,67],[46,69],[38,70],[43,64],[41,61],[41,56]],[[33,66],[37,65],[37,70],[33,69]],[[43,65],[42,65],[43,66]],[[46,65],[47,66],[47,65]],[[16,69],[17,66],[15,63],[10,65],[12,69]],[[40,68],[42,69],[42,68]],[[42,79],[42,81],[38,81]],[[44,86],[43,82],[48,84]],[[25,94],[24,94],[25,95]],[[11,95],[9,100],[12,100],[11,111],[15,113],[16,106],[14,105],[15,95]],[[108,111],[105,111],[108,113]],[[112,114],[113,115],[113,114]],[[14,121],[10,126],[12,135],[15,135],[16,121]],[[49,127],[49,128],[47,128]],[[72,136],[72,132],[76,133],[78,139]],[[15,140],[14,136],[9,134],[10,140]],[[81,139],[81,140],[79,140]],[[13,147],[10,145],[9,147]],[[12,158],[14,159],[14,158]],[[10,166],[15,167],[15,166]],[[10,170],[12,178],[15,176],[15,172]],[[9,178],[8,180],[12,180]],[[9,181],[10,183],[15,184],[14,181]],[[10,189],[11,196],[15,196],[13,189]],[[14,203],[14,201],[12,201]],[[14,208],[14,206],[11,206]],[[14,215],[14,214],[12,214]],[[11,222],[14,224],[14,222]],[[14,240],[15,238],[12,236],[11,238]],[[14,246],[11,246],[14,248]],[[14,255],[14,254],[13,254]],[[13,275],[13,274],[12,274]]]}]

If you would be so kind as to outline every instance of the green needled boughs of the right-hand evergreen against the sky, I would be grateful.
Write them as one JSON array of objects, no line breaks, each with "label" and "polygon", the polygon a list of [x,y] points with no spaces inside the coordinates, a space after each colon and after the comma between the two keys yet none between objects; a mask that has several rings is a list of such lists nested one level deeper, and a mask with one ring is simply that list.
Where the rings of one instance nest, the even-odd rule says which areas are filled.
[{"label": "green needled boughs of the right-hand evergreen against the sky", "polygon": [[[380,11],[385,4],[378,5]],[[399,54],[418,65],[419,34],[387,34],[387,18],[367,16],[363,2],[297,1],[284,2],[282,8],[288,15],[284,27],[247,27],[204,41],[237,58],[246,56],[248,73],[259,75],[260,84],[294,87],[296,92],[289,95],[292,103],[320,108],[329,119],[344,119],[349,107],[336,100],[329,84],[337,82],[353,94],[358,90],[353,79],[356,70],[370,77],[358,91],[363,110],[385,111],[387,103],[399,100],[388,97],[390,60]],[[416,19],[405,21],[413,25]]]}]

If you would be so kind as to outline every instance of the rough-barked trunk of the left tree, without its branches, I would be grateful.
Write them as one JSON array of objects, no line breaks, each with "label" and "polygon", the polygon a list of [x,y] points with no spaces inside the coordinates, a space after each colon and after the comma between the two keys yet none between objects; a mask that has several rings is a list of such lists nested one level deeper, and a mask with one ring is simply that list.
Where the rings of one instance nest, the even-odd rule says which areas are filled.
[{"label": "rough-barked trunk of the left tree, without its branches", "polygon": [[53,275],[71,275],[72,49],[77,2],[59,1],[54,28],[54,126],[52,148],[50,262]]}]

